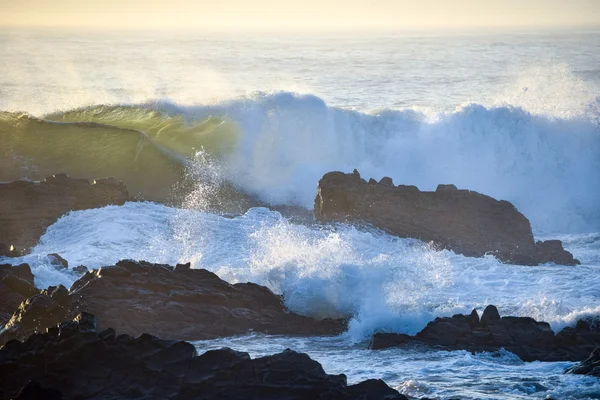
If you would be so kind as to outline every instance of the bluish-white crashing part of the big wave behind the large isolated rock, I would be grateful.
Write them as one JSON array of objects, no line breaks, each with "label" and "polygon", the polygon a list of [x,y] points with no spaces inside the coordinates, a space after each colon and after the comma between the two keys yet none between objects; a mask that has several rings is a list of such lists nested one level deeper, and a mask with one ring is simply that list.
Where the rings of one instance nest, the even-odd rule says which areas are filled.
[{"label": "bluish-white crashing part of the big wave behind the large isolated rock", "polygon": [[[531,97],[516,102],[537,104]],[[421,190],[454,183],[509,200],[539,232],[600,229],[600,114],[592,104],[366,114],[312,95],[258,92],[213,106],[160,106],[190,120],[235,121],[239,141],[219,160],[219,173],[271,204],[312,208],[323,174],[357,168]]]}]

